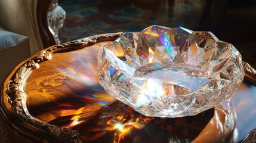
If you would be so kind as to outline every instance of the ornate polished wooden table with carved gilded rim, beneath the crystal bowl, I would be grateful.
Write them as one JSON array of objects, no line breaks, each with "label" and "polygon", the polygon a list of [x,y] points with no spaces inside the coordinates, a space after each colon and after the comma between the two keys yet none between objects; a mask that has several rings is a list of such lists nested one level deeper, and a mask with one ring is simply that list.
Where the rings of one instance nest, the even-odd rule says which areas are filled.
[{"label": "ornate polished wooden table with carved gilded rim, beneath the crystal bowl", "polygon": [[[19,64],[2,86],[0,128],[30,142],[255,141],[256,72],[249,64],[230,102],[196,116],[145,117],[97,80],[98,51],[121,34],[51,46]],[[6,132],[0,140],[14,141]]]}]

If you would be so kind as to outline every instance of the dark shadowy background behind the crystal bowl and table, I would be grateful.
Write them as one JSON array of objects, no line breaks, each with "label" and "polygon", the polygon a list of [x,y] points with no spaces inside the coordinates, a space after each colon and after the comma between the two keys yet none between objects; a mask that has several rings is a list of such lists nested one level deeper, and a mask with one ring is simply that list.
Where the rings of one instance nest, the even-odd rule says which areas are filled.
[{"label": "dark shadowy background behind the crystal bowl and table", "polygon": [[100,33],[138,32],[158,24],[211,31],[235,45],[243,61],[256,67],[254,0],[60,0],[66,20],[61,42]]}]

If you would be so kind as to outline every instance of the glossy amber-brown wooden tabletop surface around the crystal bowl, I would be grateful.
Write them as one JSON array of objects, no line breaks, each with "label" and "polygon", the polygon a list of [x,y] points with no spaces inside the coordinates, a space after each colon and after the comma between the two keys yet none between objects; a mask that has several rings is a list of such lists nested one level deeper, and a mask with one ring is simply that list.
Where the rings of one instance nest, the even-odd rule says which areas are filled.
[{"label": "glossy amber-brown wooden tabletop surface around the crystal bowl", "polygon": [[[26,83],[19,89],[26,94],[21,105],[24,114],[38,122],[29,126],[23,120],[10,123],[16,122],[29,132],[35,130],[32,134],[39,133],[35,137],[38,140],[54,137],[40,131],[36,123],[60,126],[63,130],[59,132],[77,130],[78,142],[238,142],[256,128],[256,85],[252,77],[245,77],[230,102],[196,116],[164,119],[137,113],[110,97],[98,83],[97,54],[106,43],[54,49],[48,60],[28,70]],[[13,79],[11,75],[7,79]],[[7,85],[8,80],[2,91]],[[17,116],[5,92],[2,98],[5,110],[10,111],[8,116]]]}]

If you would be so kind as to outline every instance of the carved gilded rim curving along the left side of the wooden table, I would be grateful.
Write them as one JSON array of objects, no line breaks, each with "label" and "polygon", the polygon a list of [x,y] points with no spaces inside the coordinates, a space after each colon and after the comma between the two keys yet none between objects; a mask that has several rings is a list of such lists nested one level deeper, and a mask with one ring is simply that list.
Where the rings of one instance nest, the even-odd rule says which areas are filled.
[{"label": "carved gilded rim curving along the left side of the wooden table", "polygon": [[106,35],[96,35],[84,39],[79,39],[72,42],[61,43],[59,45],[54,45],[44,51],[39,52],[38,55],[33,57],[31,60],[26,61],[22,66],[18,68],[13,77],[7,84],[7,99],[11,105],[12,110],[18,118],[28,123],[29,125],[35,126],[38,129],[44,130],[57,138],[61,138],[67,142],[82,142],[78,136],[78,130],[60,128],[56,125],[50,125],[49,123],[41,122],[38,119],[27,114],[26,111],[26,93],[23,91],[24,85],[26,84],[26,77],[29,71],[33,70],[35,67],[39,66],[39,63],[47,61],[50,59],[51,54],[54,52],[61,51],[68,48],[84,48],[85,46],[94,45],[98,42],[103,41],[114,41],[122,33],[110,33]]}]

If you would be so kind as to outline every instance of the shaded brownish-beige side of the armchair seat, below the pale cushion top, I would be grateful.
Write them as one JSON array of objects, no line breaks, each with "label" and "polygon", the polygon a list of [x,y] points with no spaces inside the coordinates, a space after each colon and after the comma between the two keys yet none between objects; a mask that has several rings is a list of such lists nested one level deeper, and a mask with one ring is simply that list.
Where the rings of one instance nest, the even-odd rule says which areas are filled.
[{"label": "shaded brownish-beige side of the armchair seat, below the pale cushion top", "polygon": [[29,47],[29,38],[25,38],[17,46],[0,52],[0,84],[17,64],[30,57]]}]

